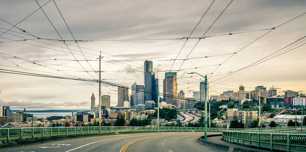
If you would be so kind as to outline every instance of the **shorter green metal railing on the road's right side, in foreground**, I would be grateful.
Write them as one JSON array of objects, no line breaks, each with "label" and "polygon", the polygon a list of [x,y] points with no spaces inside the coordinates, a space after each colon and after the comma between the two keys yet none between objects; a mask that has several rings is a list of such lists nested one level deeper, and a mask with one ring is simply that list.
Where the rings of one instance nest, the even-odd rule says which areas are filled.
[{"label": "shorter green metal railing on the road's right side, in foreground", "polygon": [[270,150],[306,151],[305,132],[223,131],[222,140]]}]

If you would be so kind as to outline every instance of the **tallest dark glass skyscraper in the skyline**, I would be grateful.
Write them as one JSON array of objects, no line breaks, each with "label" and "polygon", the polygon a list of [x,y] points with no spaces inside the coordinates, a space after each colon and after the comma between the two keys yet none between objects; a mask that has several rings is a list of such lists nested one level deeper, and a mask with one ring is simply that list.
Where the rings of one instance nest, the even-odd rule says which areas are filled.
[{"label": "tallest dark glass skyscraper in the skyline", "polygon": [[153,63],[149,60],[144,62],[144,101],[158,101],[158,79],[153,72]]}]

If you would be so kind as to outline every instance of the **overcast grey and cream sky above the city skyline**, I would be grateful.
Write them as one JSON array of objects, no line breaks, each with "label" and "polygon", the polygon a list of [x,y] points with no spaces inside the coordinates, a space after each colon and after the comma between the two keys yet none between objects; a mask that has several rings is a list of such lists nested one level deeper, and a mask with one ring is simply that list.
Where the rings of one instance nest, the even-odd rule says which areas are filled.
[{"label": "overcast grey and cream sky above the city skyline", "polygon": [[[101,77],[120,85],[131,86],[134,82],[143,84],[143,63],[151,60],[156,76],[160,79],[161,93],[165,71],[170,69],[176,72],[180,70],[177,73],[178,92],[184,90],[185,97],[188,98],[192,98],[192,92],[199,90],[199,82],[203,80],[196,74],[188,74],[190,72],[208,75],[210,95],[238,90],[241,84],[246,90],[253,90],[258,85],[267,88],[274,85],[281,88],[277,89],[280,95],[284,94],[284,90],[306,93],[306,45],[293,49],[304,44],[301,41],[305,39],[298,41],[297,43],[301,43],[297,45],[294,43],[295,46],[290,48],[293,50],[287,53],[245,71],[226,75],[304,37],[306,15],[287,21],[306,12],[306,1],[233,1],[230,4],[231,1],[216,0],[212,4],[213,1],[55,0],[73,37],[54,1],[37,2],[40,6],[47,3],[42,9],[63,40],[73,40],[74,37],[88,42],[78,42],[79,48],[77,43],[66,41],[68,49],[61,41],[15,41],[35,39],[33,36],[57,40],[61,37],[35,1],[0,1],[0,35],[12,27],[9,23],[15,25],[21,20],[16,27],[28,33],[13,27],[0,36],[0,53],[4,53],[0,54],[0,69],[98,79],[94,71],[98,71],[97,58],[101,51],[101,71],[104,71],[101,72]],[[226,8],[228,4],[230,5]],[[37,9],[39,10],[33,13]],[[31,13],[33,14],[30,15]],[[28,15],[30,16],[24,19]],[[283,24],[285,22],[287,23]],[[278,25],[281,26],[277,27]],[[272,27],[276,28],[271,32],[261,31]],[[180,39],[189,37],[194,28],[191,38],[200,38],[206,32],[205,36],[208,38],[200,41]],[[260,31],[209,37],[256,30]],[[269,33],[264,35],[267,32]],[[211,57],[203,58],[204,56]],[[199,58],[188,59],[184,63],[183,60],[170,60],[194,57]],[[76,62],[73,61],[75,58],[89,61]],[[222,78],[223,76],[226,77]],[[117,87],[103,84],[101,89],[102,95],[111,96],[111,105],[115,106]],[[0,90],[0,106],[11,106],[11,109],[22,110],[25,107],[29,110],[85,110],[90,109],[92,93],[98,104],[96,82],[0,73]]]}]

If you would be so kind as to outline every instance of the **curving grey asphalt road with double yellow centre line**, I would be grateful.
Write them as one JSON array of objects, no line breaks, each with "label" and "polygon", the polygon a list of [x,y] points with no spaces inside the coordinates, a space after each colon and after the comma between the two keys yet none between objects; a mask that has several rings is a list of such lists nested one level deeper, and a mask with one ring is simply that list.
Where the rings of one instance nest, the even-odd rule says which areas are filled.
[{"label": "curving grey asphalt road with double yellow centre line", "polygon": [[109,135],[10,147],[0,151],[216,151],[197,142],[202,135],[202,132]]}]

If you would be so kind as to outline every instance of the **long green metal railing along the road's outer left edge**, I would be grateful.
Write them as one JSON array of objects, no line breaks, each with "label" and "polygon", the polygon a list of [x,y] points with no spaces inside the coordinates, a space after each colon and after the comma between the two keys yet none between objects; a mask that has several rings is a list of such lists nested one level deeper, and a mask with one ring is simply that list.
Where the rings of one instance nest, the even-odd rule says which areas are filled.
[{"label": "long green metal railing along the road's outer left edge", "polygon": [[[276,130],[272,128],[269,130]],[[288,129],[286,127],[283,130]],[[289,128],[291,129],[291,128]],[[209,132],[222,131],[258,131],[258,128],[253,129],[225,129],[225,128],[208,128]],[[268,129],[267,129],[268,130]],[[157,132],[158,127],[101,127],[101,133],[115,132]],[[199,127],[159,127],[159,131],[204,131],[204,128]],[[2,128],[0,129],[0,141],[25,140],[36,138],[50,138],[59,136],[71,135],[88,135],[98,134],[99,127],[37,127],[37,128]]]}]

